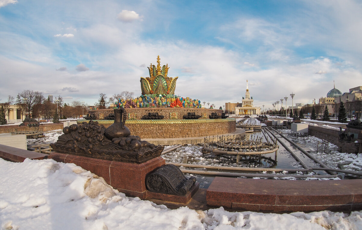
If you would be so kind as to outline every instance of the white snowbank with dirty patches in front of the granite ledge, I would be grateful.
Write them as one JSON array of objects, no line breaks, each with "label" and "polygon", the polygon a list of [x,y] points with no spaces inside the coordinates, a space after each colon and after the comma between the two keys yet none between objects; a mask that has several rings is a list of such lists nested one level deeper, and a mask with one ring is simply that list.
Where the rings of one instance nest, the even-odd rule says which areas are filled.
[{"label": "white snowbank with dirty patches in front of the granite ledge", "polygon": [[126,197],[102,178],[52,159],[0,159],[1,229],[362,229],[362,212],[290,214],[175,210]]}]

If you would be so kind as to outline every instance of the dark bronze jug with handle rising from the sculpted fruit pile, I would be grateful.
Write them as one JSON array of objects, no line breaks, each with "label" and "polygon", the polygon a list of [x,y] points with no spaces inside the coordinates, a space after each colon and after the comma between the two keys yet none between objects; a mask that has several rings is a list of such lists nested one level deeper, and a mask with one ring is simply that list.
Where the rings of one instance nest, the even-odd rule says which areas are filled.
[{"label": "dark bronze jug with handle rising from the sculpted fruit pile", "polygon": [[117,137],[127,137],[131,135],[129,128],[125,126],[127,112],[125,108],[114,109],[114,123],[106,128],[104,135],[112,140]]}]

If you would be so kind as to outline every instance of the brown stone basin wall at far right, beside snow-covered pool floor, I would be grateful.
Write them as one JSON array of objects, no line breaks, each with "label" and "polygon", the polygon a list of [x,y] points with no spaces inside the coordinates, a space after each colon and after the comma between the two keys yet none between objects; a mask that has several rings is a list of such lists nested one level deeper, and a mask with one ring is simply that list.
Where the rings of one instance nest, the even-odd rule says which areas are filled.
[{"label": "brown stone basin wall at far right, beside snow-covered pool floor", "polygon": [[308,125],[308,134],[337,145],[341,148],[341,152],[343,153],[358,153],[359,145],[361,144],[354,143],[353,141],[347,142],[345,140],[340,140],[338,130],[318,127],[315,125]]}]

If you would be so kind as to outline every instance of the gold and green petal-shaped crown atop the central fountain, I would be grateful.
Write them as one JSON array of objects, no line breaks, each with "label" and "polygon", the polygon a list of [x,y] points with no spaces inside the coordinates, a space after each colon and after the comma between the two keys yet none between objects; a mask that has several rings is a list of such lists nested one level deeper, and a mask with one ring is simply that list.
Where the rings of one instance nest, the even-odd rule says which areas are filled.
[{"label": "gold and green petal-shaped crown atop the central fountain", "polygon": [[140,80],[142,95],[175,93],[178,77],[167,77],[169,67],[166,64],[161,69],[160,55],[157,56],[157,67],[151,63],[150,67],[147,68],[150,71],[150,77],[141,77]]}]

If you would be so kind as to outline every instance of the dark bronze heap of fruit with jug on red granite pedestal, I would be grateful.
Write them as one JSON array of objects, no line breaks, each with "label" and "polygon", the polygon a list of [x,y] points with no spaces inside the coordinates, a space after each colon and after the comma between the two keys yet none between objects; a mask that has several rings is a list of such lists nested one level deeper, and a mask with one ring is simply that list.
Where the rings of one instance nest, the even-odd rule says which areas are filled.
[{"label": "dark bronze heap of fruit with jug on red granite pedestal", "polygon": [[126,117],[126,110],[120,108],[114,109],[114,123],[108,128],[93,120],[64,127],[64,134],[50,146],[59,153],[134,163],[161,156],[164,146],[130,135],[125,126]]}]

